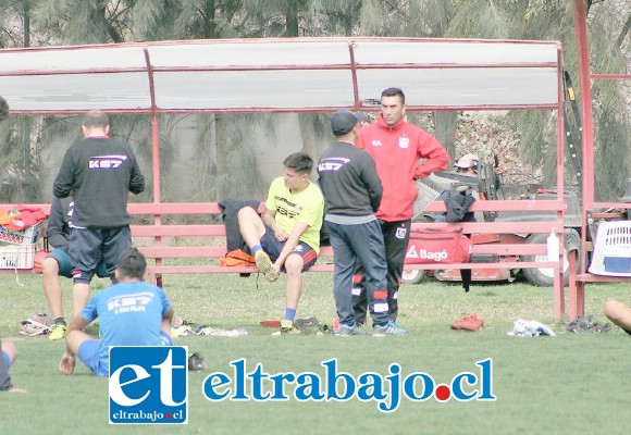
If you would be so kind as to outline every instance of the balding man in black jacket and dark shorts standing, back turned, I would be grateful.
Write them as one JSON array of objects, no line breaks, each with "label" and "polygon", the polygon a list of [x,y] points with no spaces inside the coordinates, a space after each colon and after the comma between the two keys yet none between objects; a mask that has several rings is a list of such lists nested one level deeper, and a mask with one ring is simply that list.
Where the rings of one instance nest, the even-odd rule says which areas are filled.
[{"label": "balding man in black jacket and dark shorts standing, back turned", "polygon": [[87,112],[82,129],[84,139],[65,152],[52,190],[58,198],[72,194],[75,200],[69,245],[75,314],[88,301],[90,281],[101,259],[116,282],[116,261],[132,247],[127,197],[145,190],[132,147],[108,136],[110,125],[103,112]]}]

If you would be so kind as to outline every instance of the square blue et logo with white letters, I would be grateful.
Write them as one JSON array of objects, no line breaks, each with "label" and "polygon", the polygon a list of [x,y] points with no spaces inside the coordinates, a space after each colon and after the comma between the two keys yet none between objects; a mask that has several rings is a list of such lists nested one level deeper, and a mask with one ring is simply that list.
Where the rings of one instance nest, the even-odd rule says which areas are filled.
[{"label": "square blue et logo with white letters", "polygon": [[187,424],[188,348],[110,347],[110,424]]}]

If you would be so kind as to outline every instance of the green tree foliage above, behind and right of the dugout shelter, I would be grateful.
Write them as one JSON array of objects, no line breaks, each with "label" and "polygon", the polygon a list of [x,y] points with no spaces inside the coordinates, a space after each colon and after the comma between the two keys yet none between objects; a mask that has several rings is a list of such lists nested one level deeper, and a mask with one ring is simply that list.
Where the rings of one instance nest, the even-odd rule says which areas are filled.
[{"label": "green tree foliage above, behind and right of the dugout shelter", "polygon": [[[614,3],[614,5],[613,5]],[[623,73],[627,60],[620,44],[629,49],[629,39],[624,36],[624,24],[629,20],[619,16],[615,2],[591,2],[589,9],[590,61],[594,72]],[[572,2],[568,0],[39,0],[11,1],[0,0],[0,47],[21,47],[28,45],[69,45],[103,44],[135,40],[168,40],[191,38],[238,38],[238,37],[297,37],[297,36],[399,36],[399,37],[449,37],[449,38],[494,38],[494,39],[531,39],[559,40],[562,47],[564,66],[570,72],[574,83],[578,82],[577,53],[573,33]],[[578,98],[580,91],[574,88]],[[596,148],[607,149],[598,152],[596,171],[604,174],[599,181],[603,199],[611,199],[620,186],[620,179],[629,175],[628,159],[608,160],[609,156],[621,157],[628,145],[623,139],[610,140],[611,137],[629,137],[631,120],[624,116],[623,87],[620,80],[595,80],[593,85],[594,120]],[[605,114],[620,113],[616,120]],[[443,121],[442,113],[435,119]],[[230,122],[233,117],[227,116]],[[507,125],[519,130],[519,154],[532,166],[543,166],[550,174],[556,164],[552,149],[556,144],[556,132],[552,128],[554,114],[545,115],[529,111],[511,115]],[[33,123],[36,125],[37,123]],[[143,135],[147,134],[144,123],[133,123],[139,128],[129,138],[138,146]],[[215,125],[212,124],[212,128]],[[437,122],[436,135],[450,147],[454,144],[455,129],[448,122]],[[23,124],[21,128],[30,128]],[[225,125],[226,130],[245,128]],[[608,130],[613,128],[613,130]],[[37,162],[33,154],[33,140],[40,132],[24,130],[12,142],[5,144],[8,152],[0,160],[15,166],[14,160],[26,153],[14,151],[21,144],[29,144],[29,158]],[[214,133],[212,133],[214,135]],[[231,133],[232,134],[232,133]],[[245,136],[247,132],[234,133]],[[171,148],[169,134],[161,133],[163,156]],[[205,133],[200,133],[201,136]],[[223,135],[219,132],[219,136]],[[236,137],[235,136],[235,137]],[[7,136],[9,137],[9,136]],[[149,135],[146,135],[149,137]],[[228,139],[230,140],[230,139]],[[607,144],[604,144],[604,141]],[[214,144],[214,142],[212,142]],[[225,157],[237,161],[238,153],[244,159],[251,159],[252,150],[234,144],[222,144],[226,148]],[[46,146],[45,146],[46,147]],[[613,151],[616,148],[616,152]],[[146,148],[147,150],[150,148]],[[144,152],[145,148],[138,148]],[[212,153],[212,152],[211,152]],[[249,153],[249,154],[248,154]],[[33,154],[33,156],[30,156]],[[202,154],[203,156],[203,154]],[[144,158],[147,158],[145,156]],[[212,162],[212,159],[200,161]],[[13,162],[13,163],[11,163]],[[170,162],[162,160],[162,171],[169,172]],[[17,164],[25,171],[32,162],[25,160]],[[236,165],[236,163],[235,163]],[[224,186],[228,191],[234,189],[226,174],[215,172],[212,166],[202,169],[200,176],[223,176],[215,186]],[[24,172],[25,174],[28,171]],[[214,174],[214,175],[213,175]],[[37,179],[37,174],[30,179]],[[41,178],[41,176],[39,177]],[[20,182],[21,183],[21,182]],[[18,185],[18,182],[10,183]],[[253,183],[257,184],[256,182]],[[610,187],[609,187],[610,186]],[[232,189],[232,190],[231,190]],[[22,189],[23,190],[23,189]],[[18,188],[15,191],[22,191]],[[25,191],[30,191],[28,188]],[[7,188],[3,191],[11,191]],[[16,194],[17,195],[17,194]],[[20,194],[23,195],[23,194]],[[30,194],[24,194],[30,195]],[[223,196],[216,191],[212,195]]]}]

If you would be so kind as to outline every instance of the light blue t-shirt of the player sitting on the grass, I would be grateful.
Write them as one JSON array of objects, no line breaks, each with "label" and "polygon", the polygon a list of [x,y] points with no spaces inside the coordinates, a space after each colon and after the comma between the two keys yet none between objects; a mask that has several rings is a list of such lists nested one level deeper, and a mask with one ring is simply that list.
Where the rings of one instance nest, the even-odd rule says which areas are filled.
[{"label": "light blue t-shirt of the player sitting on the grass", "polygon": [[88,323],[99,318],[101,371],[110,370],[110,346],[161,346],[160,325],[170,310],[164,290],[144,282],[120,283],[92,296],[82,314]]}]

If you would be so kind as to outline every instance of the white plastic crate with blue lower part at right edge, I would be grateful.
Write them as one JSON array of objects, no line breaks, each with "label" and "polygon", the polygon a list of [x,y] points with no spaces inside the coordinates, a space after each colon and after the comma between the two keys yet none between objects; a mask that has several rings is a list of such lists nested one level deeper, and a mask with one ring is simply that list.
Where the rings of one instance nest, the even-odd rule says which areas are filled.
[{"label": "white plastic crate with blue lower part at right edge", "polygon": [[589,269],[594,275],[631,276],[631,221],[603,222]]}]

